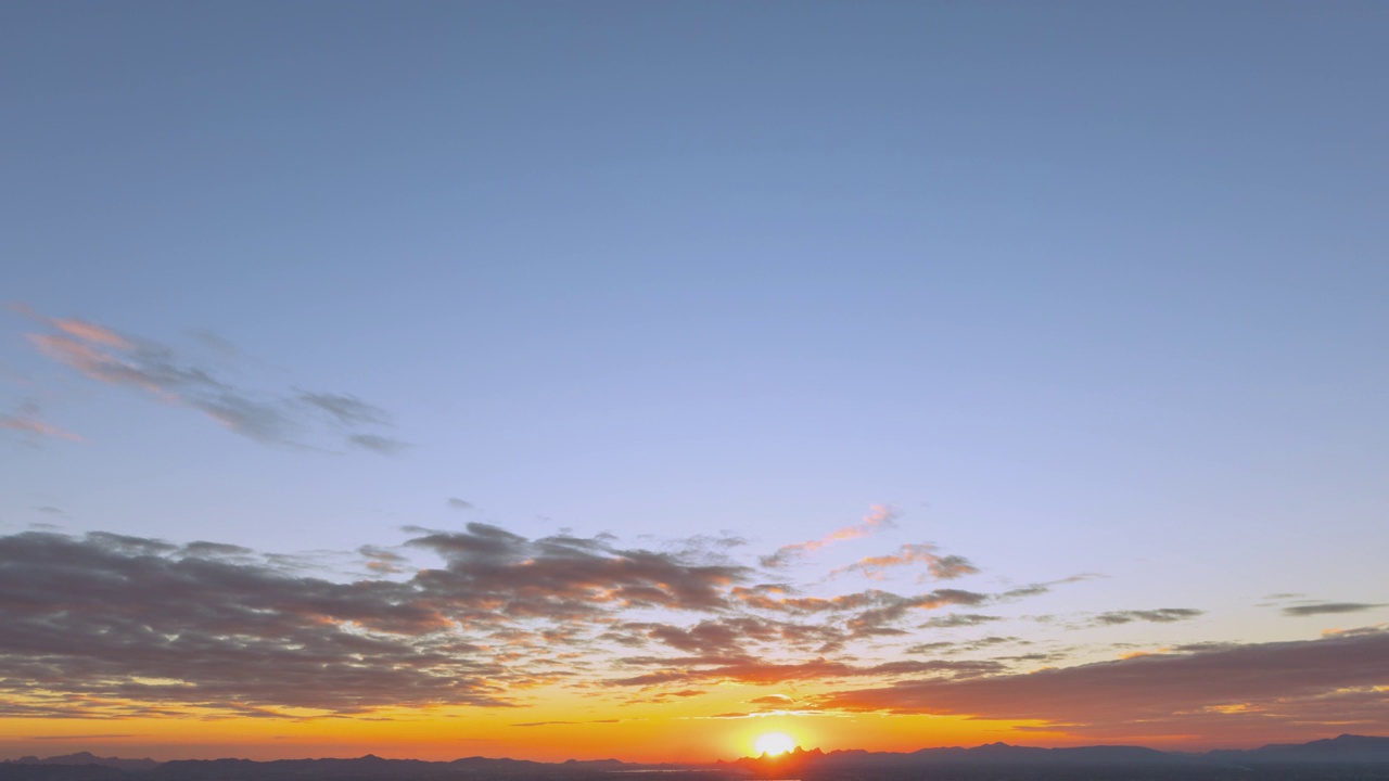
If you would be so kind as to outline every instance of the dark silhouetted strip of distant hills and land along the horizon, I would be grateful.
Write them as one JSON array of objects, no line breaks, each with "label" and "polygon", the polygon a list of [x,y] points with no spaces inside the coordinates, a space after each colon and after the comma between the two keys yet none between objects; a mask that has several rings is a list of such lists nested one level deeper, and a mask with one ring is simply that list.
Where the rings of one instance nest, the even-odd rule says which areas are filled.
[{"label": "dark silhouetted strip of distant hills and land along the horizon", "polygon": [[988,743],[910,753],[820,749],[717,764],[633,764],[615,759],[543,763],[481,756],[453,762],[382,759],[178,760],[88,752],[0,763],[0,781],[1389,781],[1389,738],[1340,735],[1250,750],[1160,752],[1142,746],[1043,749]]}]

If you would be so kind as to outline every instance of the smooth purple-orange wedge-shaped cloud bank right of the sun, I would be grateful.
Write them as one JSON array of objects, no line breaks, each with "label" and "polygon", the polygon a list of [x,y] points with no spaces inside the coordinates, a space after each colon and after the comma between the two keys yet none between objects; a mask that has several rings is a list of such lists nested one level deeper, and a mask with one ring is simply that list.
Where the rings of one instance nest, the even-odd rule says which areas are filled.
[{"label": "smooth purple-orange wedge-shaped cloud bank right of the sun", "polygon": [[[1339,713],[1389,727],[1389,634],[1250,643],[1190,653],[1146,655],[1029,674],[901,681],[818,698],[826,709],[1040,720],[1071,732],[1111,727],[1160,730],[1231,706],[1258,712],[1265,725]],[[1185,723],[1183,723],[1185,718]],[[1329,716],[1329,718],[1335,718]],[[1267,731],[1264,732],[1267,734]]]}]

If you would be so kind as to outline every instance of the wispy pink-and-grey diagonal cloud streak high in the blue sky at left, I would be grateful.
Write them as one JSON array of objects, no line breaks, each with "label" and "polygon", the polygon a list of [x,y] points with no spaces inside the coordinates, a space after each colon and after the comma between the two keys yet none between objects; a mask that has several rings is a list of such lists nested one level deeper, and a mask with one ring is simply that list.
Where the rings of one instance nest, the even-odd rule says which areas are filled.
[{"label": "wispy pink-and-grey diagonal cloud streak high in the blue sky at left", "polygon": [[[407,446],[375,431],[389,427],[390,416],[356,396],[306,390],[256,392],[221,379],[215,368],[189,363],[176,350],[156,340],[82,320],[44,317],[24,306],[14,309],[51,329],[28,335],[35,349],[49,359],[89,379],[138,389],[163,403],[200,410],[249,439],[303,446],[306,438],[332,435],[340,438],[343,445],[381,454],[399,453]],[[219,353],[226,354],[225,350]],[[43,434],[32,421],[28,429]]]}]

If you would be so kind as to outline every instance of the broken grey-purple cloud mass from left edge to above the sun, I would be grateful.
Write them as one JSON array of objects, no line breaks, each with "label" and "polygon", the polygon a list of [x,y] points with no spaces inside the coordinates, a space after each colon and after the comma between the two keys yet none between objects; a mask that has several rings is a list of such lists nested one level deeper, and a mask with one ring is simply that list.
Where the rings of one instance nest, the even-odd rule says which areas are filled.
[{"label": "broken grey-purple cloud mass from left edge to above the sun", "polygon": [[[765,573],[726,559],[724,538],[651,550],[569,531],[532,539],[482,523],[407,531],[400,546],[340,559],[357,579],[322,575],[321,560],[208,541],[0,536],[0,716],[269,718],[506,707],[556,685],[617,685],[631,702],[664,702],[725,682],[826,681],[879,687],[864,692],[901,681],[913,707],[910,684],[1011,680],[1003,657],[861,653],[911,635],[922,613],[997,599],[988,593],[807,595],[792,582],[757,582]],[[432,564],[413,566],[411,553]],[[1190,609],[1165,610],[1149,613]],[[995,620],[963,613],[925,625]],[[999,635],[911,650],[1022,643]]]}]

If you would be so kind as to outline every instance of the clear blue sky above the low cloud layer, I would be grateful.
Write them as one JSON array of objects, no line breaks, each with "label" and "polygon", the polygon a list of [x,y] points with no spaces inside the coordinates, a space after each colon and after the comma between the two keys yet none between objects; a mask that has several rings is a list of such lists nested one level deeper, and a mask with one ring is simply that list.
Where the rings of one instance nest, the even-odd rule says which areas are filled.
[{"label": "clear blue sky above the low cloud layer", "polygon": [[[10,3],[0,531],[770,553],[888,506],[815,566],[932,542],[999,589],[1104,575],[1057,614],[1206,611],[1154,646],[1389,620],[1386,24]],[[74,321],[215,382],[39,349]]]}]

